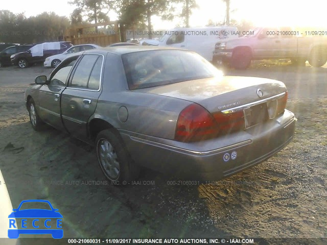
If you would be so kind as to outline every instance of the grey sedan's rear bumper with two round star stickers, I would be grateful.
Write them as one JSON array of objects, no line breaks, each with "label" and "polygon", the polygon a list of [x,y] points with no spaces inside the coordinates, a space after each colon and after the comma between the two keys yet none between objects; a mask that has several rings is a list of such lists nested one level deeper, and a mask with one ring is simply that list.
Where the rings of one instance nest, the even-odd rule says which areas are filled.
[{"label": "grey sedan's rear bumper with two round star stickers", "polygon": [[[212,181],[234,175],[281,151],[293,138],[295,116],[275,120],[225,137],[175,145],[121,132],[132,158],[140,165],[188,180]],[[179,143],[179,145],[178,145]],[[213,148],[216,146],[216,148]],[[217,148],[219,146],[219,148]]]}]

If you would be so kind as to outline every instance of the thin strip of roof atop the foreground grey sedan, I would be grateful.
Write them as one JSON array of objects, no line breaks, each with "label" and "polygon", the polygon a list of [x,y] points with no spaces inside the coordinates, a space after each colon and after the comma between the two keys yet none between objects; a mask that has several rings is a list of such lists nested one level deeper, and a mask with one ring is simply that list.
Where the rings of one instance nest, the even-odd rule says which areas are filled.
[{"label": "thin strip of roof atop the foreground grey sedan", "polygon": [[153,50],[181,50],[180,48],[174,47],[164,47],[164,46],[151,46],[151,45],[130,45],[130,46],[114,46],[114,47],[102,47],[97,48],[95,50],[88,50],[85,51],[84,54],[94,53],[98,51],[99,53],[116,53],[120,55],[128,54],[128,53],[135,53],[135,52],[142,52],[142,51],[153,51]]}]

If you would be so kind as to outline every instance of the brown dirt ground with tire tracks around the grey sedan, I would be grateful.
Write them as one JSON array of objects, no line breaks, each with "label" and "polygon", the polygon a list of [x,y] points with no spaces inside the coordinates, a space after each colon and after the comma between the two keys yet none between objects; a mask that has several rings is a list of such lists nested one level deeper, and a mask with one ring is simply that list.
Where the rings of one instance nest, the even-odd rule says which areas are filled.
[{"label": "brown dirt ground with tire tracks around the grey sedan", "polygon": [[105,181],[91,146],[50,127],[32,130],[24,91],[50,71],[0,70],[0,168],[14,208],[26,199],[49,200],[63,215],[64,237],[327,236],[326,65],[227,71],[287,85],[297,127],[274,157],[201,185],[172,185],[175,177],[143,169],[125,187]]}]

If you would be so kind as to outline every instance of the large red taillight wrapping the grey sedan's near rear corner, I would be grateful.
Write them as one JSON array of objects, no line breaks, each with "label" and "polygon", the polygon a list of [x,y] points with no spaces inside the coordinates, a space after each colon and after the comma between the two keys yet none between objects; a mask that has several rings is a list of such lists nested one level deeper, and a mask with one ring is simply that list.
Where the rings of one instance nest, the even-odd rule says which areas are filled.
[{"label": "large red taillight wrapping the grey sedan's near rear corner", "polygon": [[177,119],[175,140],[189,142],[213,138],[218,126],[213,116],[202,106],[192,104],[184,108]]}]

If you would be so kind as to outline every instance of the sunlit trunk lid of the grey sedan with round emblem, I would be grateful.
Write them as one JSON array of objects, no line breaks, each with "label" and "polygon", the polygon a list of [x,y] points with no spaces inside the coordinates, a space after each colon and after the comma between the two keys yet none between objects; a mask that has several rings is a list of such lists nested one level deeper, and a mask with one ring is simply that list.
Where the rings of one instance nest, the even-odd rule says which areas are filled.
[{"label": "sunlit trunk lid of the grey sedan with round emblem", "polygon": [[[259,89],[262,94],[258,92]],[[282,82],[271,79],[222,76],[134,91],[194,102],[215,113],[281,94],[286,91],[286,86]]]}]

